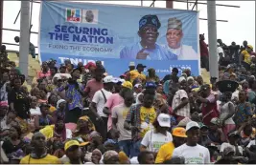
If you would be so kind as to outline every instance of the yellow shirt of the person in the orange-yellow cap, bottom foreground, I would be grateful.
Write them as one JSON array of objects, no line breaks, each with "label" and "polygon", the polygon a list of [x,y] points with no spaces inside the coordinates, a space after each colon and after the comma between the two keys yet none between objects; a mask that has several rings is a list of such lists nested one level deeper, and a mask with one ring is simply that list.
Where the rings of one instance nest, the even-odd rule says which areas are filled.
[{"label": "yellow shirt of the person in the orange-yellow cap, bottom foreground", "polygon": [[175,144],[173,142],[162,145],[159,149],[155,159],[155,163],[163,163],[165,160],[171,159],[175,150]]}]

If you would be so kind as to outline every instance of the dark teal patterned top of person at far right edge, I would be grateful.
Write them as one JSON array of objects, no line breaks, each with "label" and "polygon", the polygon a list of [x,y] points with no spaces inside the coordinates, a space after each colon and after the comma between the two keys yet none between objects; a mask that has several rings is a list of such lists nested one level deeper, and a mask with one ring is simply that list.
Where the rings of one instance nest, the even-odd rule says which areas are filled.
[{"label": "dark teal patterned top of person at far right edge", "polygon": [[252,115],[251,105],[248,102],[239,104],[234,117],[235,123],[244,123],[244,120],[250,115]]}]

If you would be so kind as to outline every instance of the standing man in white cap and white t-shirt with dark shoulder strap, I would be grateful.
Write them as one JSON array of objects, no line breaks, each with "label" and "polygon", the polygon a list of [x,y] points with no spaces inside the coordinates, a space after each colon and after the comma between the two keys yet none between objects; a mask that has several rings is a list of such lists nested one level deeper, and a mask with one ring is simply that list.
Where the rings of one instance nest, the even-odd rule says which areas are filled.
[{"label": "standing man in white cap and white t-shirt with dark shoulder strap", "polygon": [[92,98],[92,102],[90,104],[90,110],[97,117],[96,120],[99,121],[99,125],[96,124],[96,130],[103,136],[105,139],[105,135],[107,133],[107,120],[108,116],[103,112],[105,107],[105,102],[107,98],[112,94],[111,91],[113,89],[113,76],[107,75],[103,79],[104,88],[102,90],[97,91]]}]

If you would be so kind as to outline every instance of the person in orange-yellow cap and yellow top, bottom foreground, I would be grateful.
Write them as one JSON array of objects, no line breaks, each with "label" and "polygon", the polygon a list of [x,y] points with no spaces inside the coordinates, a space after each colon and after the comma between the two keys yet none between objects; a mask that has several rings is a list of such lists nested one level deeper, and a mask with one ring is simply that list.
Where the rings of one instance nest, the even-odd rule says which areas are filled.
[{"label": "person in orange-yellow cap and yellow top, bottom foreground", "polygon": [[173,156],[175,148],[185,143],[186,130],[182,127],[176,127],[173,130],[173,142],[166,143],[161,146],[155,159],[155,163],[163,163]]}]

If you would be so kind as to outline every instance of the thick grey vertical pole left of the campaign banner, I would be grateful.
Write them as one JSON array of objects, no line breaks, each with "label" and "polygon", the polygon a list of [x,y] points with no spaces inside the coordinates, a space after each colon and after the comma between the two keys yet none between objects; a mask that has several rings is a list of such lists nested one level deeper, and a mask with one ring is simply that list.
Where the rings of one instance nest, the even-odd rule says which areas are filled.
[{"label": "thick grey vertical pole left of the campaign banner", "polygon": [[21,1],[19,68],[26,77],[28,76],[29,48],[30,48],[30,1]]}]

